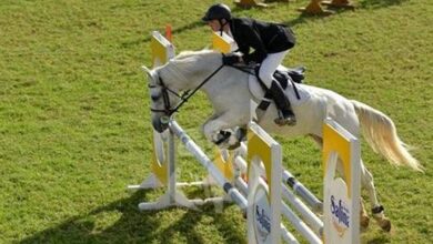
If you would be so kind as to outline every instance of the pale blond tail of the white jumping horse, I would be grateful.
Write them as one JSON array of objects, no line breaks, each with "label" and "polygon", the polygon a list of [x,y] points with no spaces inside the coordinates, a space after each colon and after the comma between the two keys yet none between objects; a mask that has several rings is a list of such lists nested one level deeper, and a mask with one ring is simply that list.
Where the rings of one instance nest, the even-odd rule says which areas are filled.
[{"label": "pale blond tail of the white jumping horse", "polygon": [[423,172],[423,166],[400,140],[394,122],[389,116],[359,101],[351,102],[355,108],[363,135],[374,152],[382,154],[394,165],[405,164]]}]

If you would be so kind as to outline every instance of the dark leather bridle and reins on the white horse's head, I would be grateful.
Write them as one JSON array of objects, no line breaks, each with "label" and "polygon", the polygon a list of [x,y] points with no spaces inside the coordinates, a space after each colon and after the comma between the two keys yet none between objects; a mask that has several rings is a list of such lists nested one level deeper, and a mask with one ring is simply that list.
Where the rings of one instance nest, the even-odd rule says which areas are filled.
[{"label": "dark leather bridle and reins on the white horse's head", "polygon": [[[188,100],[195,94],[208,81],[210,81],[222,68],[224,64],[221,64],[215,71],[213,71],[210,75],[208,75],[197,88],[194,88],[192,91],[187,90],[182,94],[179,94],[178,92],[173,91],[169,87],[165,85],[164,81],[162,80],[161,75],[158,75],[158,83],[157,84],[149,84],[148,87],[150,89],[154,88],[161,88],[161,95],[164,102],[164,109],[154,109],[151,108],[150,111],[152,112],[162,112],[167,116],[171,116],[173,113],[178,112],[179,109],[188,102]],[[178,96],[181,101],[172,106],[170,102],[170,94],[172,93],[173,95]]]}]

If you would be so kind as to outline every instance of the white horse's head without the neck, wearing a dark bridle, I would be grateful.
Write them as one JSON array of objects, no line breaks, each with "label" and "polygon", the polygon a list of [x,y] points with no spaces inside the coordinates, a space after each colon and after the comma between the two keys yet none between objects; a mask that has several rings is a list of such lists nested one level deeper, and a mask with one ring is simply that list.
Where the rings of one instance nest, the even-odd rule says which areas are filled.
[{"label": "white horse's head without the neck, wearing a dark bridle", "polygon": [[178,91],[165,84],[161,69],[149,70],[145,67],[143,69],[149,77],[152,126],[161,133],[168,129],[170,116],[175,112],[175,106],[179,103]]}]

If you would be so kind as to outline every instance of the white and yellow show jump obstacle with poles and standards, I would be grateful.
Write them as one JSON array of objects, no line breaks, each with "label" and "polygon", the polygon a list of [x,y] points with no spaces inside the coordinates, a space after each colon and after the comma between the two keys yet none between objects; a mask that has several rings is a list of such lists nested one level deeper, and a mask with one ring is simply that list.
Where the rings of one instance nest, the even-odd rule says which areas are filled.
[{"label": "white and yellow show jump obstacle with poles and standards", "polygon": [[[162,60],[161,57],[165,57],[167,60],[172,57],[168,54],[174,53],[170,42],[158,32],[153,33],[153,40],[167,49],[163,54],[158,52],[160,57],[155,59]],[[155,50],[152,49],[152,53],[153,51]],[[159,210],[173,205],[195,209],[204,203],[232,201],[246,214],[249,243],[281,243],[281,240],[299,243],[296,237],[309,243],[360,243],[359,141],[332,120],[324,121],[323,135],[323,205],[283,169],[281,145],[254,122],[249,124],[245,143],[241,143],[234,151],[219,154],[212,161],[178,122],[171,120],[167,132],[153,134],[154,153],[150,177],[140,185],[129,187],[165,189],[165,193],[157,202],[140,203],[140,210]],[[211,182],[177,182],[175,140],[182,142],[203,165]],[[342,169],[339,174],[338,169]],[[224,195],[189,200],[178,191],[179,186],[210,183],[222,187]],[[321,220],[318,214],[322,213]],[[282,216],[296,234],[286,230]]]}]

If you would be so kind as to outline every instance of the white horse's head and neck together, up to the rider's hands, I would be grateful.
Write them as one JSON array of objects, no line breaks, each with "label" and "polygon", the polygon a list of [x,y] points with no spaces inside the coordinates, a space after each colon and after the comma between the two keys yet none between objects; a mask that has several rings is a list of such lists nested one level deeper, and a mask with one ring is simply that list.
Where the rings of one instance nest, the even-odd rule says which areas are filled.
[{"label": "white horse's head and neck together, up to the rider's hands", "polygon": [[170,116],[179,109],[179,92],[195,89],[221,63],[221,54],[202,50],[182,52],[153,70],[143,67],[149,75],[153,129],[160,133],[167,130]]}]

